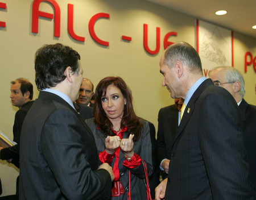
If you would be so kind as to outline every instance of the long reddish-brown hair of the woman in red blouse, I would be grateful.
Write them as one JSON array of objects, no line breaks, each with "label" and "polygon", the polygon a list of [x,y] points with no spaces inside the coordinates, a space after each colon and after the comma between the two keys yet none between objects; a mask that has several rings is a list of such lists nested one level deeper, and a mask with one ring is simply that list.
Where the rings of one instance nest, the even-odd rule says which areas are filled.
[{"label": "long reddish-brown hair of the woman in red blouse", "polygon": [[102,95],[106,94],[106,89],[109,85],[114,85],[117,87],[121,91],[123,97],[126,99],[126,105],[123,110],[123,118],[121,120],[120,128],[127,127],[127,131],[134,134],[134,140],[138,140],[141,137],[143,124],[133,110],[131,93],[125,84],[125,81],[123,81],[121,77],[106,77],[98,83],[95,90],[95,105],[93,107],[95,112],[94,122],[100,127],[106,136],[115,135],[112,130],[113,124],[106,116],[101,103],[101,97]]}]

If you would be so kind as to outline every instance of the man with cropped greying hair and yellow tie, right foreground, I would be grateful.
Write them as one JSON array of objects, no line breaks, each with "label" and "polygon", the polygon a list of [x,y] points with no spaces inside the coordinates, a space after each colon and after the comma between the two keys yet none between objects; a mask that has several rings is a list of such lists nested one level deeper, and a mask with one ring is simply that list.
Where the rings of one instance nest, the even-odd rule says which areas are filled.
[{"label": "man with cropped greying hair and yellow tie, right foreground", "polygon": [[170,147],[168,178],[156,199],[253,199],[240,111],[228,91],[203,77],[201,60],[188,43],[166,49],[162,85],[183,98],[181,122]]}]

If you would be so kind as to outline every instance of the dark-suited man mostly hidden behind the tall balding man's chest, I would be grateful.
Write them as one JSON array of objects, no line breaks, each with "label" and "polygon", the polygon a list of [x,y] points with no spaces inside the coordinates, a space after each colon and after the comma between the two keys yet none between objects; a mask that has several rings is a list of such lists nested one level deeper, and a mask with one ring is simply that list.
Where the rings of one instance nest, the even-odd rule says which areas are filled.
[{"label": "dark-suited man mostly hidden behind the tall balding man's chest", "polygon": [[175,104],[167,107],[163,107],[158,113],[158,139],[157,152],[158,152],[158,165],[163,171],[161,173],[162,178],[166,178],[168,174],[169,163],[171,159],[171,148],[170,146],[174,142],[177,127],[179,126],[180,120],[180,109],[183,105],[183,98],[175,98]]}]

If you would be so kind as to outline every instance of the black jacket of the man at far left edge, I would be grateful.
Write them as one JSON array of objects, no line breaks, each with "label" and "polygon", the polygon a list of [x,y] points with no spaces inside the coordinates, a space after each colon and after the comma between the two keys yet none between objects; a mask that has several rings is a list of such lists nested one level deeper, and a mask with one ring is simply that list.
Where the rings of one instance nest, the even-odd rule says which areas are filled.
[{"label": "black jacket of the man at far left edge", "polygon": [[20,132],[22,130],[23,121],[27,115],[28,110],[34,101],[29,101],[25,103],[15,114],[14,125],[13,125],[13,141],[17,144],[13,147],[4,148],[1,150],[1,159],[2,160],[11,160],[17,168],[19,168],[19,141],[20,141]]}]

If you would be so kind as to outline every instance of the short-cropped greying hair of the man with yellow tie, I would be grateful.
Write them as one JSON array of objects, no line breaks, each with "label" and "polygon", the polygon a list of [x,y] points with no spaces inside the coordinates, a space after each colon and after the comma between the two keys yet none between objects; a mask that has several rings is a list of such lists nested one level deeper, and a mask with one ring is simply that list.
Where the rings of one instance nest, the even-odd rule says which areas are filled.
[{"label": "short-cropped greying hair of the man with yellow tie", "polygon": [[187,65],[191,73],[203,74],[201,59],[196,49],[184,41],[172,44],[164,53],[164,64],[169,68],[175,65],[177,61]]}]

